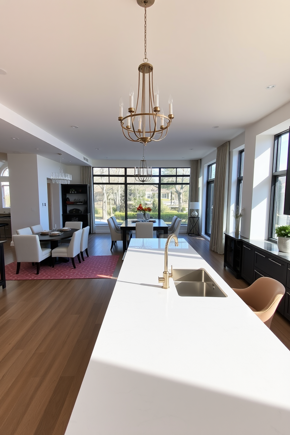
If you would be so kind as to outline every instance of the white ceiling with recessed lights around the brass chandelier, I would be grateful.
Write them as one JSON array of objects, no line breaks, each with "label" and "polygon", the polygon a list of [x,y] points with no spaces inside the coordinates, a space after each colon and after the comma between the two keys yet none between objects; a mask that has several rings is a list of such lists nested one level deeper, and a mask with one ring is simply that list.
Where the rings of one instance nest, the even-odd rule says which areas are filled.
[{"label": "white ceiling with recessed lights around the brass chandelier", "polygon": [[[7,71],[0,103],[87,157],[140,159],[141,145],[123,137],[118,111],[131,84],[137,92],[143,13],[136,0],[0,0],[0,68]],[[167,113],[172,94],[175,117],[145,157],[203,157],[287,103],[289,16],[288,0],[155,0],[147,57],[160,106]],[[266,90],[270,84],[277,86]],[[10,124],[0,127],[0,152],[13,150]],[[57,152],[30,140],[17,147]]]}]

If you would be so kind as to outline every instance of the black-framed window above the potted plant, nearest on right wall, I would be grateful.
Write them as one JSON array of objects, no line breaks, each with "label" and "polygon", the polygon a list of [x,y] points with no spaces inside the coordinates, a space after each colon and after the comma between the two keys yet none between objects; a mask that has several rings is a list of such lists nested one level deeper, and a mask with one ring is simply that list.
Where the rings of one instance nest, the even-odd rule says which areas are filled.
[{"label": "black-framed window above the potted plant, nearest on right wall", "polygon": [[289,225],[290,216],[284,214],[284,197],[288,160],[289,130],[274,136],[273,174],[270,199],[269,239],[277,240],[275,228]]}]

